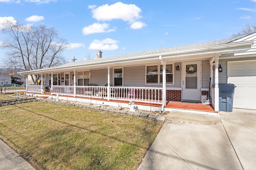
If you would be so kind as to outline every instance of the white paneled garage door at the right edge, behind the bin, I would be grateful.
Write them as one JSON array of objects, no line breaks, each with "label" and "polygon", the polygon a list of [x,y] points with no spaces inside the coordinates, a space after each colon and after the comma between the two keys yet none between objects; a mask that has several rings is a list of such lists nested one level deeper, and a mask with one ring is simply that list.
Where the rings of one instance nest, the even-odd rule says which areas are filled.
[{"label": "white paneled garage door at the right edge, behind the bin", "polygon": [[228,83],[236,86],[233,107],[256,109],[256,61],[228,62]]}]

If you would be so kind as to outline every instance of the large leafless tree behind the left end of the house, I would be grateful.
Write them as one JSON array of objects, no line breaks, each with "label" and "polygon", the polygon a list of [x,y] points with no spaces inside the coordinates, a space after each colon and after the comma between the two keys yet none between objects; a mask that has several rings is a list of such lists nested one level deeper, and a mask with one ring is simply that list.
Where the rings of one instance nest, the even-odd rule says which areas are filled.
[{"label": "large leafless tree behind the left end of the house", "polygon": [[[36,70],[66,63],[61,52],[68,47],[66,40],[58,36],[54,27],[27,26],[6,20],[2,32],[10,39],[2,47],[10,49],[6,63],[18,70]],[[32,81],[37,82],[36,75]]]}]

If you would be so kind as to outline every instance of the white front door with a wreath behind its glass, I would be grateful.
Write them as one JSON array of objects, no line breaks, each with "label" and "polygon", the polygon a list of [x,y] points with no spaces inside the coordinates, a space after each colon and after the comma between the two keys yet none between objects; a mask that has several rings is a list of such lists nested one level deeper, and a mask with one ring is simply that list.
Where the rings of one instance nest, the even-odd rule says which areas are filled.
[{"label": "white front door with a wreath behind its glass", "polygon": [[182,68],[182,101],[200,101],[201,61],[184,62]]}]

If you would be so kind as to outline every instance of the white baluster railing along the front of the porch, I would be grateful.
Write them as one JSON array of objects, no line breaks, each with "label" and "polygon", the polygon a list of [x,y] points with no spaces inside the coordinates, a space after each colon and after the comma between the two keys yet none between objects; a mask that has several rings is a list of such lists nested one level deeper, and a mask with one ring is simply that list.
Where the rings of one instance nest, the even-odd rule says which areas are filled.
[{"label": "white baluster railing along the front of the porch", "polygon": [[[110,90],[108,93],[108,89]],[[41,92],[41,86],[28,85],[28,92]],[[162,88],[52,86],[52,94],[162,104]]]}]

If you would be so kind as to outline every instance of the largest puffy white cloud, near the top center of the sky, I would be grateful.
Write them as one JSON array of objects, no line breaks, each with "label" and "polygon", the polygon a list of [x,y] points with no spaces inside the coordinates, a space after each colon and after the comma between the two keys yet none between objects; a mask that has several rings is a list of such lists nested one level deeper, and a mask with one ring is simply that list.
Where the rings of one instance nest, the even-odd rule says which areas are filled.
[{"label": "largest puffy white cloud, near the top center of the sky", "polygon": [[[92,7],[92,6],[91,6]],[[98,21],[111,21],[111,20],[123,20],[129,23],[134,23],[140,19],[141,9],[134,4],[123,4],[117,2],[112,5],[102,5],[98,8],[92,8],[92,17]]]}]

